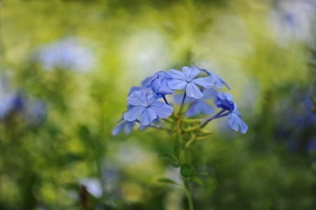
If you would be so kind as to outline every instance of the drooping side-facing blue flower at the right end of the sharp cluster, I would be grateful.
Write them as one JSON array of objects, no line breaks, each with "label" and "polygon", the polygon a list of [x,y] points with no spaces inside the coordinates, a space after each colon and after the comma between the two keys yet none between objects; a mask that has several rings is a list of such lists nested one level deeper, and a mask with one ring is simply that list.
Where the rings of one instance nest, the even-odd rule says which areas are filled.
[{"label": "drooping side-facing blue flower at the right end of the sharp cluster", "polygon": [[214,105],[220,107],[225,111],[228,111],[228,123],[234,131],[238,131],[240,127],[241,133],[246,133],[248,126],[242,120],[242,114],[239,113],[236,103],[232,100],[232,96],[229,93],[218,93],[214,99]]}]

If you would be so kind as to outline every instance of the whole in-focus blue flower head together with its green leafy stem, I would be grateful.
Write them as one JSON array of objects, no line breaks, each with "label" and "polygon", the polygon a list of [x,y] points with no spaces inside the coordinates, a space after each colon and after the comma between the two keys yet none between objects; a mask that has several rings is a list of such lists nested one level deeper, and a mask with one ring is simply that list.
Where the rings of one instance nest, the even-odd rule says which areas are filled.
[{"label": "whole in-focus blue flower head together with its green leafy stem", "polygon": [[[206,74],[206,77],[201,74]],[[122,118],[125,122],[120,122],[114,128],[114,132],[112,131],[117,135],[124,126],[127,126],[125,131],[131,131],[134,122],[137,122],[140,124],[140,129],[150,127],[174,134],[176,145],[174,156],[176,157],[173,155],[168,155],[168,157],[173,167],[180,167],[180,176],[190,210],[194,210],[190,183],[195,176],[205,174],[205,172],[195,173],[195,168],[188,163],[185,152],[211,134],[210,131],[204,130],[204,127],[214,119],[228,116],[228,123],[233,130],[240,129],[242,133],[246,133],[248,129],[242,121],[242,115],[237,110],[232,96],[216,90],[223,86],[230,89],[230,86],[215,74],[195,66],[183,67],[182,72],[159,71],[147,77],[142,82],[142,86],[131,88],[127,98],[127,110]],[[178,112],[173,109],[175,105],[169,104],[166,100],[166,95],[173,94],[175,90],[183,90],[182,98],[179,100],[176,96],[174,98],[175,104],[179,105]],[[164,102],[159,100],[164,100]],[[220,108],[216,114],[213,114],[214,108],[209,104],[211,100],[214,107]],[[163,180],[166,183],[180,185],[169,178]]]}]

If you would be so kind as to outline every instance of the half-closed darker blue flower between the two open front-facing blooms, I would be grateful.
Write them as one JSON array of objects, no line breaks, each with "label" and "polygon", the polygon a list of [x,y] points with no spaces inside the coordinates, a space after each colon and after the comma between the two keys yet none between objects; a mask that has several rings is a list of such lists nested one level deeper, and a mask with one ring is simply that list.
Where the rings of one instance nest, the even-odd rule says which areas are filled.
[{"label": "half-closed darker blue flower between the two open front-facing blooms", "polygon": [[170,74],[159,71],[154,74],[154,76],[147,87],[151,88],[157,96],[165,96],[166,94],[172,94],[174,92],[174,89],[171,89],[167,84],[167,81],[172,79]]}]

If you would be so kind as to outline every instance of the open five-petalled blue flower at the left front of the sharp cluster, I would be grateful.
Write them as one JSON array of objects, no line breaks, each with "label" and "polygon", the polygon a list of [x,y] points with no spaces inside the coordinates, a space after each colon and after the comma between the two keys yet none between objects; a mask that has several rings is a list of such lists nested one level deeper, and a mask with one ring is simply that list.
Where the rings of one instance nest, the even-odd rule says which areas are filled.
[{"label": "open five-petalled blue flower at the left front of the sharp cluster", "polygon": [[140,117],[140,124],[147,126],[158,117],[169,117],[173,108],[165,103],[157,101],[160,97],[146,94],[143,91],[134,91],[127,98],[127,103],[133,105],[130,110],[124,113],[126,121],[133,122]]}]

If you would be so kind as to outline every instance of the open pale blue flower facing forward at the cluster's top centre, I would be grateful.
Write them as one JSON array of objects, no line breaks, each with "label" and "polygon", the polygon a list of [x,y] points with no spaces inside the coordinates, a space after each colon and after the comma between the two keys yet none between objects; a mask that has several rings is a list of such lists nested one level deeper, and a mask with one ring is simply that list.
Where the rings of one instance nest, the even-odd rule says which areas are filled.
[{"label": "open pale blue flower facing forward at the cluster's top centre", "polygon": [[178,70],[169,70],[168,74],[171,74],[172,78],[168,81],[168,86],[171,89],[182,90],[185,88],[187,96],[192,98],[202,98],[203,93],[199,90],[199,86],[204,88],[211,88],[213,81],[211,77],[201,77],[194,79],[199,74],[200,70],[196,67],[183,67],[182,72]]}]

